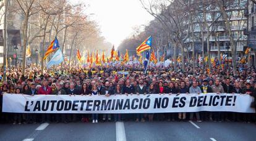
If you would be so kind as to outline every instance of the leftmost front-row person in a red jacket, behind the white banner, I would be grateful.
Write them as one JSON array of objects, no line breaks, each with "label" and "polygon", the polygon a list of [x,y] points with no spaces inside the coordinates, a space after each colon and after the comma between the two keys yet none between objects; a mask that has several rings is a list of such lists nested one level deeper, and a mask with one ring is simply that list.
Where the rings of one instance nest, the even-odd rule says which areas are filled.
[{"label": "leftmost front-row person in a red jacket, behind the white banner", "polygon": [[[41,86],[38,90],[38,95],[49,95],[53,91],[51,87],[48,86],[48,81],[43,81],[43,86]],[[49,123],[51,119],[51,115],[47,113],[42,113],[41,114],[41,123]]]}]

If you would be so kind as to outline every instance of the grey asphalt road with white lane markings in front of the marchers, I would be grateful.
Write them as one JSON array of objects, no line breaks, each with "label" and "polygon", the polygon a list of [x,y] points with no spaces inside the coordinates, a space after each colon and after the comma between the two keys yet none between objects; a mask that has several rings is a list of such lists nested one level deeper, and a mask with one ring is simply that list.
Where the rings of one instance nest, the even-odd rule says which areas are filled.
[{"label": "grey asphalt road with white lane markings in front of the marchers", "polygon": [[0,140],[256,140],[254,123],[167,122],[0,124]]}]

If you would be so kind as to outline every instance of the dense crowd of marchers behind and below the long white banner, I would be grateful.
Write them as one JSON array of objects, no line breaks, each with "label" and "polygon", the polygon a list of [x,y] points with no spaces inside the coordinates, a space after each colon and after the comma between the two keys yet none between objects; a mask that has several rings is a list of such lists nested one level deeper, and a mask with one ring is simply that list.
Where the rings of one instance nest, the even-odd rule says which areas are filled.
[{"label": "dense crowd of marchers behind and below the long white banner", "polygon": [[[118,71],[127,71],[128,75]],[[237,75],[233,68],[214,68],[211,72],[197,66],[195,70],[187,65],[186,70],[173,67],[151,67],[143,73],[142,66],[116,65],[93,66],[91,68],[72,66],[55,67],[41,70],[37,66],[27,66],[25,75],[19,67],[7,68],[7,80],[0,79],[2,95],[129,95],[132,94],[248,94],[256,95],[256,70],[247,65],[239,65]],[[245,102],[246,103],[246,102]],[[255,105],[255,103],[252,103]],[[1,110],[2,111],[2,110]],[[244,121],[255,122],[255,113],[210,112],[195,113],[150,113],[150,114],[37,114],[37,113],[0,113],[1,123],[45,123],[45,122],[105,122],[105,121]]]}]

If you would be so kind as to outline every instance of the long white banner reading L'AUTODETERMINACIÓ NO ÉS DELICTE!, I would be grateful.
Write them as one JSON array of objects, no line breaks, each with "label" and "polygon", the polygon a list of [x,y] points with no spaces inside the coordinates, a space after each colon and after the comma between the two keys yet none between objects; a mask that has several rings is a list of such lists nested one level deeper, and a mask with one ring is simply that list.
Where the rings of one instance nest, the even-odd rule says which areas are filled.
[{"label": "long white banner reading L'AUTODETERMINACI\u00d3 NO \u00c9S DELICTE!", "polygon": [[177,113],[234,111],[255,113],[247,94],[21,95],[4,94],[10,113]]}]

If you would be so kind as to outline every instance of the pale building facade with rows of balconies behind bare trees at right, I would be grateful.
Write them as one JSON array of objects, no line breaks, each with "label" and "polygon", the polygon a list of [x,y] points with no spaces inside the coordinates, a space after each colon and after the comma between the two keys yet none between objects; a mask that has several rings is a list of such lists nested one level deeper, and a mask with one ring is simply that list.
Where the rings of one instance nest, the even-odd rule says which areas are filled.
[{"label": "pale building facade with rows of balconies behind bare trees at right", "polygon": [[[246,9],[247,1],[242,0],[240,1],[239,5],[237,4],[236,7],[227,7],[228,11],[228,20],[231,23],[231,30],[233,33],[234,41],[237,47],[237,60],[242,58],[244,56],[244,47],[247,46],[247,36],[244,35],[244,28],[247,27],[247,17],[244,15],[244,11]],[[220,53],[221,54],[228,54],[229,57],[231,57],[231,46],[230,46],[230,39],[228,32],[226,31],[225,22],[223,20],[223,17],[221,15],[220,10],[218,10],[218,7],[214,9],[208,9],[206,12],[206,21],[208,26],[210,27],[209,30],[207,28],[203,29],[203,48],[202,49],[202,32],[200,25],[203,25],[203,14],[198,14],[197,19],[202,19],[201,22],[194,22],[194,44],[195,44],[195,52],[197,52],[196,55],[202,54],[202,50],[205,52],[205,55],[207,55],[207,31],[210,35],[209,37],[209,43],[210,43],[210,56],[211,58],[218,56],[218,49],[220,47]],[[200,21],[200,20],[199,20]],[[187,39],[187,43],[189,47],[190,52],[192,52],[192,43],[193,39],[190,38]],[[192,54],[192,53],[191,53]],[[201,55],[202,56],[202,55]]]}]

